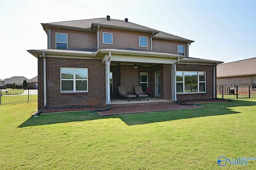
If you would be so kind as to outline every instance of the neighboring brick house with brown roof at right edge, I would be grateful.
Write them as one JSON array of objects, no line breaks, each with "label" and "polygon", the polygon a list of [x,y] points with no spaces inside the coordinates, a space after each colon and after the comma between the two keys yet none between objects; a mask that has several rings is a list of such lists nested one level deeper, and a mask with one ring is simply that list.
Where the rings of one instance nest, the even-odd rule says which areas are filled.
[{"label": "neighboring brick house with brown roof at right edge", "polygon": [[256,88],[256,57],[218,65],[217,85]]}]

